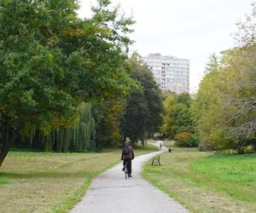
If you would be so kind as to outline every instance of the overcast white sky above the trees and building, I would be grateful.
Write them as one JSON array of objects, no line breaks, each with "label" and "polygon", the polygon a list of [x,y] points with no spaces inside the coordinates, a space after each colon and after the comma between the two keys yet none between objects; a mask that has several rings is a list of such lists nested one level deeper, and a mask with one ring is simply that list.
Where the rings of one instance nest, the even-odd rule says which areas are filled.
[{"label": "overcast white sky above the trees and building", "polygon": [[[137,21],[131,47],[140,55],[160,53],[190,60],[190,92],[195,92],[212,53],[235,46],[236,22],[251,12],[253,0],[113,0]],[[80,17],[96,0],[80,0]]]}]

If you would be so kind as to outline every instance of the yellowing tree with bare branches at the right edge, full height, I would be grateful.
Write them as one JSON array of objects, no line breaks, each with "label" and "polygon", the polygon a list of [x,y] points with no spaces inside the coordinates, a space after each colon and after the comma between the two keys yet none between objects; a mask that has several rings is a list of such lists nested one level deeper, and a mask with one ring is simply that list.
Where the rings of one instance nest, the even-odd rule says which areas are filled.
[{"label": "yellowing tree with bare branches at the right edge, full height", "polygon": [[226,93],[227,122],[230,138],[253,144],[256,152],[256,3],[251,14],[237,23],[239,48],[230,52],[228,72],[230,90]]}]

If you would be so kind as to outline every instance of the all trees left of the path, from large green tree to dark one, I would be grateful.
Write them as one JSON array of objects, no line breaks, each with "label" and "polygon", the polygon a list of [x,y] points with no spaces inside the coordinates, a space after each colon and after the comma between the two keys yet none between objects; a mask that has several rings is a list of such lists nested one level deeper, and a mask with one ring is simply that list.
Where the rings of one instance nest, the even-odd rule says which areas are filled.
[{"label": "all trees left of the path, from large green tree to dark one", "polygon": [[128,57],[135,21],[109,0],[90,18],[77,9],[75,0],[0,2],[0,166],[20,141],[96,150],[145,141],[159,127],[160,90]]}]

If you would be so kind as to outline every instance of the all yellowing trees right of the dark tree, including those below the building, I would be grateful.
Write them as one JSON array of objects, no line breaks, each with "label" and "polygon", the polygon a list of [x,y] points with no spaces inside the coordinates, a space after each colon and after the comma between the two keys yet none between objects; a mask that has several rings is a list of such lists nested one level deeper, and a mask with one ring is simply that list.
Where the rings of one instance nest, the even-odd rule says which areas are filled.
[{"label": "all yellowing trees right of the dark tree, including those below the building", "polygon": [[237,23],[237,46],[209,57],[197,94],[190,99],[166,98],[163,131],[177,145],[256,152],[256,5],[252,5],[252,13]]}]

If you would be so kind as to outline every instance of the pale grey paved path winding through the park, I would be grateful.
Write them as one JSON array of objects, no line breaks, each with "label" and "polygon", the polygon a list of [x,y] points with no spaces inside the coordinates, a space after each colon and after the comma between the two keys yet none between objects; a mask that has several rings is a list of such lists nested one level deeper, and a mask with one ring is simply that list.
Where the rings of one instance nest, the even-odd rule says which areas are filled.
[{"label": "pale grey paved path winding through the park", "polygon": [[[159,143],[160,141],[156,141],[157,145]],[[166,151],[166,147],[162,147],[160,152],[135,158],[132,161],[132,177],[129,180],[125,180],[122,164],[97,176],[84,199],[76,204],[70,213],[187,213],[181,204],[140,176],[143,163]]]}]

